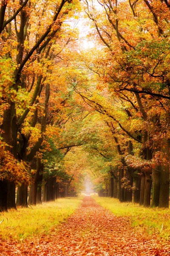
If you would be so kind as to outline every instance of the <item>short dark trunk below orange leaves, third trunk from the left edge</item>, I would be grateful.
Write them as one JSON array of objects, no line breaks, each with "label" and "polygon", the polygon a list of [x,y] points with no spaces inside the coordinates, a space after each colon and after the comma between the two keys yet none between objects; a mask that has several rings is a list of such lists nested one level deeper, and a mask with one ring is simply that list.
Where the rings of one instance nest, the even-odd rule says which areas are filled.
[{"label": "short dark trunk below orange leaves, third trunk from the left edge", "polygon": [[17,206],[28,207],[28,186],[24,184],[18,186]]}]

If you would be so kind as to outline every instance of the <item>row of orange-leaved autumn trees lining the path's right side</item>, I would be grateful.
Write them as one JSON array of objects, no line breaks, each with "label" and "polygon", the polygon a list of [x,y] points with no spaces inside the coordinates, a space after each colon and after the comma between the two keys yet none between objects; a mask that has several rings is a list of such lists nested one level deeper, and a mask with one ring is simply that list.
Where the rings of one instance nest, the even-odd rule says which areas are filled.
[{"label": "row of orange-leaved autumn trees lining the path's right side", "polygon": [[134,201],[150,206],[153,182],[152,206],[168,207],[170,5],[147,0],[84,5],[105,49],[88,64],[98,92],[77,93],[103,116],[113,135],[119,170],[116,175],[111,162],[110,173],[119,183],[119,199],[131,200],[132,188]]}]

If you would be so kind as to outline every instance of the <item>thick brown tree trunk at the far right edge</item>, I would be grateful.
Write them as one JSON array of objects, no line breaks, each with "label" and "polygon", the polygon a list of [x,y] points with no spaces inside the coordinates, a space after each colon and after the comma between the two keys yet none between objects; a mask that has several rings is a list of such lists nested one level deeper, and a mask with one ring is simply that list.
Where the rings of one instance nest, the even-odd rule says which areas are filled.
[{"label": "thick brown tree trunk at the far right edge", "polygon": [[160,196],[159,207],[169,207],[169,188],[170,188],[170,143],[169,139],[164,139],[164,147],[162,152],[167,154],[167,164],[161,166],[161,182],[160,182]]}]

